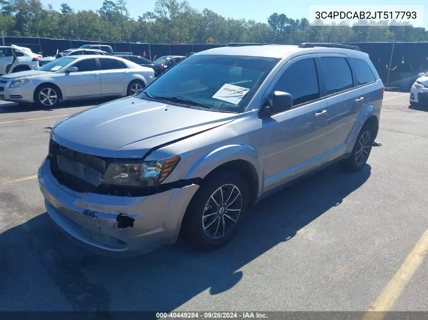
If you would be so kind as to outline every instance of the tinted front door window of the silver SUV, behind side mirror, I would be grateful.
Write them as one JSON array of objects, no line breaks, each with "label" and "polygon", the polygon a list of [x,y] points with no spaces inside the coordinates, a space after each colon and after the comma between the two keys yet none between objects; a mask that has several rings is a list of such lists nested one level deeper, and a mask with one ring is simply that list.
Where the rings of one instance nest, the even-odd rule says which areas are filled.
[{"label": "tinted front door window of the silver SUV, behind side mirror", "polygon": [[320,98],[318,72],[313,58],[294,62],[278,79],[274,91],[293,97],[293,106]]}]

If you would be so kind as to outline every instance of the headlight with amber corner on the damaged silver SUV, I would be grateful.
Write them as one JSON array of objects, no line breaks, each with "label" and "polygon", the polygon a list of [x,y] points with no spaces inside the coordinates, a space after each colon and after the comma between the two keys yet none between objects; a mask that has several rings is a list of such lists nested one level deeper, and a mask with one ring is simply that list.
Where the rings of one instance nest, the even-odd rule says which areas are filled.
[{"label": "headlight with amber corner on the damaged silver SUV", "polygon": [[110,163],[103,184],[149,187],[159,185],[174,170],[180,156],[155,161]]}]

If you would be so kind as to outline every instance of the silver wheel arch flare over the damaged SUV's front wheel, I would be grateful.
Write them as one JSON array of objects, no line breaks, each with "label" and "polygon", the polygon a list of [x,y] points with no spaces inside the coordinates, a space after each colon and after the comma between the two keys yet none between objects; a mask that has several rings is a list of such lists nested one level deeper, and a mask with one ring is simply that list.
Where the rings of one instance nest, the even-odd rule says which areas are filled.
[{"label": "silver wheel arch flare over the damaged SUV's front wheel", "polygon": [[262,190],[263,159],[257,150],[247,144],[230,144],[208,151],[187,170],[184,179],[204,178],[222,164],[234,160],[245,160],[254,167],[257,173],[260,194]]}]

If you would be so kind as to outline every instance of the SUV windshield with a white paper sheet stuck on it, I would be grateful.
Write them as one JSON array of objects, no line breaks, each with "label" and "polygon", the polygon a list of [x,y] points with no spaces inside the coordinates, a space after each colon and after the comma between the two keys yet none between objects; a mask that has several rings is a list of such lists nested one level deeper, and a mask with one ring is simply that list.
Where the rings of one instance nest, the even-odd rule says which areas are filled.
[{"label": "SUV windshield with a white paper sheet stuck on it", "polygon": [[[156,98],[179,98],[225,112],[242,112],[267,74],[280,61],[276,58],[194,55],[175,65],[147,86]],[[147,96],[142,93],[140,98]]]}]

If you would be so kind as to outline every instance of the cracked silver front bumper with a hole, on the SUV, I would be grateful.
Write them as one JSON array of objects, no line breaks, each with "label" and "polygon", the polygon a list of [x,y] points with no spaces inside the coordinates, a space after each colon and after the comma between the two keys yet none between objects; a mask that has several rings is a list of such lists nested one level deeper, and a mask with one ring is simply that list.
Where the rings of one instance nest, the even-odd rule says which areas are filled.
[{"label": "cracked silver front bumper with a hole, on the SUV", "polygon": [[199,188],[192,184],[146,197],[78,193],[59,184],[49,159],[37,175],[46,210],[55,224],[69,238],[116,257],[174,243],[187,205]]}]

